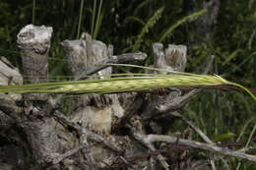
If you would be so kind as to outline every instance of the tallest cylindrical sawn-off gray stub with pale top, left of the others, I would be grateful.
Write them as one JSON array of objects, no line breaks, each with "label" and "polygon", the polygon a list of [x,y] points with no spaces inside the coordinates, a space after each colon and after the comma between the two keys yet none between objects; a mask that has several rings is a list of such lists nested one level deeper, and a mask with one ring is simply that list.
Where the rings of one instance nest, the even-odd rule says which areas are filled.
[{"label": "tallest cylindrical sawn-off gray stub with pale top, left of the others", "polygon": [[[18,34],[26,84],[42,83],[48,79],[47,56],[50,48],[52,28],[29,25]],[[32,78],[32,79],[26,79]],[[39,102],[39,104],[38,104]],[[21,114],[23,127],[32,155],[42,164],[50,163],[58,154],[60,144],[54,130],[54,119],[46,94],[24,95],[25,109]]]}]

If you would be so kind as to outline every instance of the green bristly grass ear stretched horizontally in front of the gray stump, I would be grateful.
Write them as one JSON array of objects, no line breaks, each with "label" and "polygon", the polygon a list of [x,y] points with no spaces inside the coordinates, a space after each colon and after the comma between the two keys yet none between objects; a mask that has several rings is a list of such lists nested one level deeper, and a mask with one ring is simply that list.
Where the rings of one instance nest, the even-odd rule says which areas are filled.
[{"label": "green bristly grass ear stretched horizontally in front of the gray stump", "polygon": [[69,81],[33,85],[2,85],[0,92],[11,93],[111,93],[137,91],[167,86],[235,85],[256,97],[244,86],[230,83],[219,76],[176,73],[174,75],[141,74],[140,77],[119,77],[91,81]]}]

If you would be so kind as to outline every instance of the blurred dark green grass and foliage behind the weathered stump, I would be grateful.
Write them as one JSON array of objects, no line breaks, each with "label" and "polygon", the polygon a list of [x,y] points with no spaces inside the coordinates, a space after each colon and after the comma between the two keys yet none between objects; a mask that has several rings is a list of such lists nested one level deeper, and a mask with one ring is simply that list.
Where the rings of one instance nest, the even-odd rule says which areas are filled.
[{"label": "blurred dark green grass and foliage behind the weathered stump", "polygon": [[[214,54],[211,74],[255,87],[256,0],[221,1],[212,41],[190,29],[191,20],[177,25],[189,15],[185,7],[185,0],[1,0],[0,55],[21,67],[16,43],[19,30],[28,24],[45,25],[54,29],[51,76],[66,74],[60,41],[78,38],[81,32],[88,31],[94,38],[113,44],[115,54],[136,50],[148,53],[145,65],[152,63],[153,42],[185,44],[189,48],[187,71],[200,73],[202,64]],[[192,38],[200,45],[192,45]],[[256,137],[255,113],[255,102],[248,95],[220,90],[205,91],[182,111],[212,140],[250,145],[255,145],[250,139]],[[186,128],[176,124],[176,130]],[[228,160],[231,169],[256,169],[255,163]]]}]

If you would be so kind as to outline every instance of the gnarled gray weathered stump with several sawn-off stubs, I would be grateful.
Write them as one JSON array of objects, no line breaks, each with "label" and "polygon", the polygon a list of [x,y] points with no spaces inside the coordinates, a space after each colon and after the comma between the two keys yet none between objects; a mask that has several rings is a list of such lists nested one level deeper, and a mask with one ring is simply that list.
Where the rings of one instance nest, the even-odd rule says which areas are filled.
[{"label": "gnarled gray weathered stump with several sawn-off stubs", "polygon": [[[30,25],[18,34],[25,84],[47,81],[51,33],[52,28]],[[88,33],[81,39],[64,40],[61,44],[75,80],[84,79],[81,74],[85,73],[97,75],[89,79],[109,78],[112,68],[97,64],[146,57],[140,52],[113,56],[111,45],[92,39]],[[156,68],[185,69],[187,59],[183,45],[168,45],[163,49],[162,44],[155,43],[153,55]],[[6,63],[0,62],[1,85],[23,84],[19,72]],[[161,167],[169,169],[169,162],[158,152],[157,145],[147,142],[146,137],[149,133],[160,135],[168,131],[177,111],[196,93],[183,96],[178,89],[170,88],[161,94],[137,91],[72,96],[70,112],[66,115],[58,107],[62,95],[53,99],[47,94],[3,94],[0,127],[5,128],[0,135],[6,135],[11,129],[19,132],[14,133],[13,140],[22,143],[17,160],[8,164],[24,169],[120,169],[122,166],[157,169],[159,162]],[[8,152],[1,145],[0,149]]]}]

